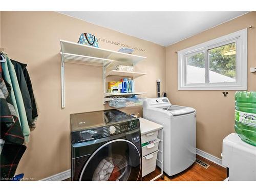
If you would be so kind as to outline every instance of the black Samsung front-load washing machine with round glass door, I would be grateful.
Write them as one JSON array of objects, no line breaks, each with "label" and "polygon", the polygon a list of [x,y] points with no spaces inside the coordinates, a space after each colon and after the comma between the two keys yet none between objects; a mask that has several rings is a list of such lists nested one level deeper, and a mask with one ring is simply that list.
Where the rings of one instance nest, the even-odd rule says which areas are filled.
[{"label": "black Samsung front-load washing machine with round glass door", "polygon": [[139,119],[115,109],[70,118],[72,181],[141,180]]}]

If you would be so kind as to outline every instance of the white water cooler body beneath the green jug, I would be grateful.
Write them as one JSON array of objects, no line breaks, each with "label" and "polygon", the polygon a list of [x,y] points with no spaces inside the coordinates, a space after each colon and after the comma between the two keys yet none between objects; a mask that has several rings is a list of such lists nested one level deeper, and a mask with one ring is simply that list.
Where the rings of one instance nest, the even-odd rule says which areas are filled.
[{"label": "white water cooler body beneath the green jug", "polygon": [[222,164],[229,181],[256,181],[256,146],[241,140],[236,133],[223,139]]}]

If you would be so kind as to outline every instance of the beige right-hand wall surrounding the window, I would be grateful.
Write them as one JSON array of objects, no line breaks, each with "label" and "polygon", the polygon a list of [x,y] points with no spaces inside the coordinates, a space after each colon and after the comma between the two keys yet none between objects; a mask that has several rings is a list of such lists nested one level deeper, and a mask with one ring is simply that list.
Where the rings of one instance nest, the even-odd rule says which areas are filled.
[{"label": "beige right-hand wall surrounding the window", "polygon": [[166,91],[173,104],[192,106],[197,110],[197,148],[216,157],[222,152],[222,140],[234,132],[234,93],[228,91],[178,91],[176,51],[248,28],[248,90],[256,90],[256,74],[249,72],[256,66],[256,12],[250,12],[227,23],[211,28],[166,48]]}]

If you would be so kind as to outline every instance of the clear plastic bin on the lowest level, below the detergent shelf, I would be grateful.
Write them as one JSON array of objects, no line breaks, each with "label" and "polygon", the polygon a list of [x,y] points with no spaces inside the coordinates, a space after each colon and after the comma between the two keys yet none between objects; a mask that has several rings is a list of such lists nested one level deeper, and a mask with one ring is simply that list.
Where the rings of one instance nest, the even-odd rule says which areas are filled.
[{"label": "clear plastic bin on the lowest level, below the detergent shelf", "polygon": [[131,97],[131,98],[115,98],[109,101],[109,105],[113,108],[124,108],[125,106],[137,106],[143,104],[144,98]]}]

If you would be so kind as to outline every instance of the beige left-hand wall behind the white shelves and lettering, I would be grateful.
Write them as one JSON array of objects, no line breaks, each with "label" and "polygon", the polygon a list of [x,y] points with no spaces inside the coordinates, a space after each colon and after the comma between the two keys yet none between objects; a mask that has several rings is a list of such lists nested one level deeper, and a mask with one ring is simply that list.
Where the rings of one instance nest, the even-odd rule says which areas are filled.
[{"label": "beige left-hand wall behind the white shelves and lettering", "polygon": [[[125,23],[125,21],[124,21]],[[36,180],[70,168],[70,121],[72,113],[103,110],[102,68],[66,65],[66,108],[60,103],[60,39],[76,42],[82,32],[132,45],[147,57],[136,70],[147,75],[136,79],[136,90],[156,97],[156,79],[165,88],[165,47],[56,12],[2,12],[2,46],[10,58],[28,63],[38,104],[39,118],[17,173]],[[121,47],[99,42],[101,48]],[[142,112],[140,107],[126,111]]]}]

